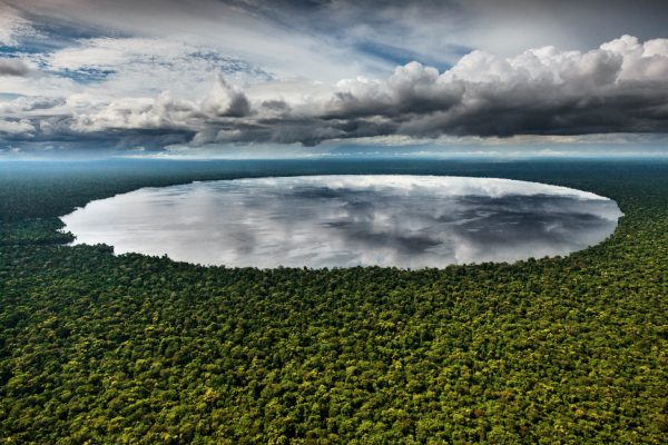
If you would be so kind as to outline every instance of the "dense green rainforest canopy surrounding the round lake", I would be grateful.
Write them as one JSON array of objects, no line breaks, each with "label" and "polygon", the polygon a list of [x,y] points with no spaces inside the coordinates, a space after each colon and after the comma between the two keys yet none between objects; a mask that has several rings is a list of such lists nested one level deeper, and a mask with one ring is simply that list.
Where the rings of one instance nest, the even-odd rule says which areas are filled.
[{"label": "dense green rainforest canopy surrounding the round lake", "polygon": [[616,199],[615,235],[567,258],[257,270],[59,245],[90,199],[267,169],[176,164],[0,167],[3,443],[668,442],[668,164],[278,168]]}]

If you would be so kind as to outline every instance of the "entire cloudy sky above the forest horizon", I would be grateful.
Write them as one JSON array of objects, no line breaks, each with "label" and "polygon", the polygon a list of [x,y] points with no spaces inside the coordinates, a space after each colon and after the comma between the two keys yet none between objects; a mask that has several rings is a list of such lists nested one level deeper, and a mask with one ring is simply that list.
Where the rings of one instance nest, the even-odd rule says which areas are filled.
[{"label": "entire cloudy sky above the forest horizon", "polygon": [[668,2],[0,0],[0,157],[665,155]]}]

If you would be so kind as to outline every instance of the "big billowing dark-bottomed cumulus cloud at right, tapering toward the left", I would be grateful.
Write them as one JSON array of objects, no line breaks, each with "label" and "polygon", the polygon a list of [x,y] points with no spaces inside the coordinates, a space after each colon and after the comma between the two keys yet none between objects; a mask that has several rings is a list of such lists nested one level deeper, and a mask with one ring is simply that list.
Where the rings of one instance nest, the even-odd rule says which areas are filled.
[{"label": "big billowing dark-bottomed cumulus cloud at right, tapering toward the left", "polygon": [[304,145],[386,135],[660,134],[668,131],[668,40],[623,36],[587,52],[546,47],[512,58],[473,51],[444,72],[410,62],[387,79],[342,80],[328,98],[286,109],[273,118],[259,109],[207,134],[216,142]]}]

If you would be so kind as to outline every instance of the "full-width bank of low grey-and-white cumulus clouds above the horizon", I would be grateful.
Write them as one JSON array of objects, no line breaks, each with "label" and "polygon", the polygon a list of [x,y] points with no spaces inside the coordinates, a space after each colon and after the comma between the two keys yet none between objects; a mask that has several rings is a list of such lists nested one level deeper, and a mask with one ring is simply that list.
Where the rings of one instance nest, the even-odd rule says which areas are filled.
[{"label": "full-width bank of low grey-and-white cumulus clouds above the horizon", "polygon": [[169,90],[107,101],[81,96],[88,100],[68,98],[71,112],[59,118],[29,118],[38,138],[95,135],[121,146],[147,145],[151,137],[313,146],[369,137],[668,132],[668,39],[623,36],[590,51],[543,47],[514,57],[475,50],[445,71],[413,61],[384,79],[356,77],[332,87],[283,89],[268,81],[242,88],[220,72],[213,77],[213,88],[198,98]]}]

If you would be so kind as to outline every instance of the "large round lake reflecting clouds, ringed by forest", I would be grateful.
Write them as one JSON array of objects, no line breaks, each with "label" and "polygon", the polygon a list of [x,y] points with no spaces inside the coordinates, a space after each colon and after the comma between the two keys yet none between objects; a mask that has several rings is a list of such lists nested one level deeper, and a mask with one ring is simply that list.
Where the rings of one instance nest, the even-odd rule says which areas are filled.
[{"label": "large round lake reflecting clouds, ringed by forest", "polygon": [[590,192],[509,179],[302,176],[143,188],[61,217],[75,244],[250,267],[444,267],[567,255],[621,216]]}]

